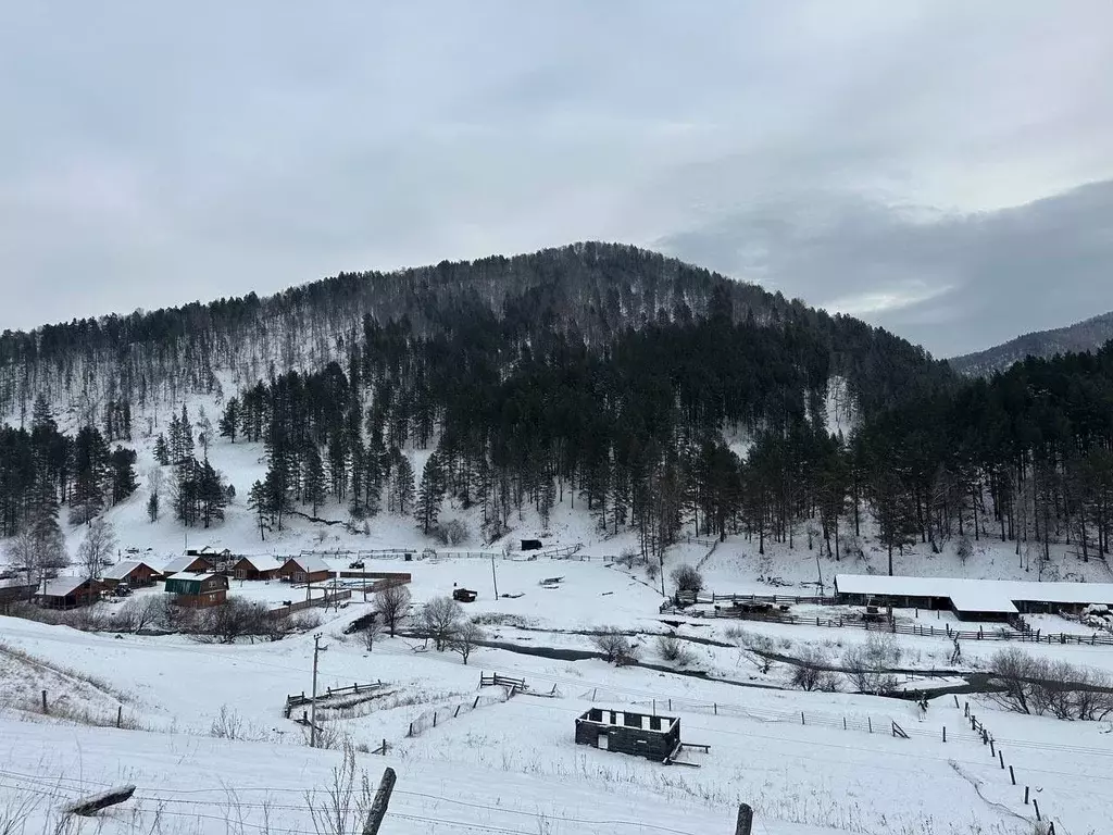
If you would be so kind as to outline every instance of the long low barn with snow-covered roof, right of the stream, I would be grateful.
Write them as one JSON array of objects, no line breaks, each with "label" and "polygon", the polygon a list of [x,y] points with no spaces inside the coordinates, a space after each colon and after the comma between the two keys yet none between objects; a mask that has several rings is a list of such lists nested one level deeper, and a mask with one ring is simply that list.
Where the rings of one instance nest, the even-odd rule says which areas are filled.
[{"label": "long low barn with snow-covered roof, right of the stream", "polygon": [[949,609],[961,620],[1009,621],[1022,613],[1077,613],[1113,605],[1113,583],[836,574],[840,603]]}]

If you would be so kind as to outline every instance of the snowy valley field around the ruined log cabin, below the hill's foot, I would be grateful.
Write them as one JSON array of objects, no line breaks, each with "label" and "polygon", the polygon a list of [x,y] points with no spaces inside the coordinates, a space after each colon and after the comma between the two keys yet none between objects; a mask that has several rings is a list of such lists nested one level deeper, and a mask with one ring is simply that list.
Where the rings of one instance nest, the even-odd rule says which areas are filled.
[{"label": "snowy valley field around the ruined log cabin, below the hill's foot", "polygon": [[[374,566],[401,567],[396,560]],[[657,613],[659,595],[599,560],[499,560],[500,592],[522,597],[498,600],[485,560],[405,568],[414,576],[417,603],[451,591],[454,582],[477,589],[469,613],[487,621],[489,637],[528,651],[591,651],[590,636],[577,630],[602,625],[666,629]],[[551,577],[564,579],[552,589],[539,584]],[[255,588],[260,597],[272,595],[268,589],[288,592],[278,583]],[[358,750],[358,768],[373,782],[384,766],[397,772],[384,832],[731,832],[737,804],[745,802],[758,813],[756,832],[771,835],[1026,835],[1034,806],[1025,806],[1024,786],[1058,832],[1105,832],[1113,811],[1109,724],[1016,717],[972,701],[1014,767],[1013,786],[1007,769],[964,724],[954,697],[936,699],[925,716],[896,699],[741,687],[715,679],[779,687],[786,668],[761,675],[740,650],[705,645],[693,645],[693,666],[712,678],[493,648],[477,649],[464,666],[457,655],[414,651],[418,641],[402,637],[382,638],[368,652],[358,636],[342,635],[365,610],[356,596],[347,608],[326,613],[319,687],[380,680],[385,687],[374,699],[323,708],[319,716],[331,744],[348,739]],[[742,626],[769,635],[787,654],[825,641],[837,654],[839,645],[866,637],[857,630]],[[728,628],[725,621],[691,621],[679,632],[728,642]],[[26,832],[40,831],[62,799],[120,783],[138,790],[136,799],[96,822],[111,832],[151,831],[156,824],[164,832],[315,831],[306,793],[323,798],[342,754],[307,748],[304,728],[283,716],[286,696],[311,687],[312,636],[211,646],[11,618],[0,619],[0,636],[9,650],[40,665],[38,678],[27,684],[18,666],[29,661],[0,654],[4,695],[13,705],[0,714],[0,792],[9,805],[17,796],[40,802]],[[652,641],[641,640],[643,660],[667,666]],[[930,667],[949,642],[905,637],[902,647],[909,666]],[[1099,666],[1110,666],[1113,655],[1054,649]],[[531,690],[554,696],[506,699],[501,688],[484,688],[476,707],[481,670],[522,677]],[[121,706],[126,729],[43,717],[36,707],[40,689],[51,704],[66,695],[109,726]],[[699,766],[691,768],[574,745],[575,717],[597,705],[671,710],[681,719],[682,738],[710,745],[710,752],[686,752]],[[411,723],[414,737],[407,736]],[[894,736],[893,723],[909,738]],[[368,753],[383,740],[386,756]]]}]

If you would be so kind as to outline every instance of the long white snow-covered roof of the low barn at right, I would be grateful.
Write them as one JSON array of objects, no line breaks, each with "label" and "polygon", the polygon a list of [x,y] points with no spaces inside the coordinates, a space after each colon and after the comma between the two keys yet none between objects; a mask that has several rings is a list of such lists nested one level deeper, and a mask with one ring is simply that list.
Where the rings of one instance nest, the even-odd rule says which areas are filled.
[{"label": "long white snow-covered roof of the low barn at right", "polygon": [[967,580],[954,577],[837,574],[844,595],[903,595],[948,598],[958,611],[1015,613],[1017,601],[1035,603],[1113,603],[1113,583]]}]

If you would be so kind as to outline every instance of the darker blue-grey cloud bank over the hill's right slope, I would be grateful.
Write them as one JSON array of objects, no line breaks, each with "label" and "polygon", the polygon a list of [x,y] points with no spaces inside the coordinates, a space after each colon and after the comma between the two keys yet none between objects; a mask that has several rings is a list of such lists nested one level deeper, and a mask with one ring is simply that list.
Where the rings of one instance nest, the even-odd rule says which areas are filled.
[{"label": "darker blue-grey cloud bank over the hill's right slope", "polygon": [[940,356],[1113,310],[1113,180],[969,215],[809,195],[660,245]]}]

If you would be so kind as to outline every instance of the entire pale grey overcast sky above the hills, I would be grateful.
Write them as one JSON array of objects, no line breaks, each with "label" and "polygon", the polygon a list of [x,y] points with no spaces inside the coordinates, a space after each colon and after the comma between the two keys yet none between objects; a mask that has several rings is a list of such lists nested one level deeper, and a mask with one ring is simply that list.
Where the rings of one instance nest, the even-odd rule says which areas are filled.
[{"label": "entire pale grey overcast sky above the hills", "polygon": [[577,239],[937,355],[1113,310],[1113,3],[10,3],[0,330]]}]

